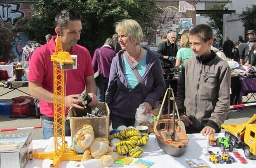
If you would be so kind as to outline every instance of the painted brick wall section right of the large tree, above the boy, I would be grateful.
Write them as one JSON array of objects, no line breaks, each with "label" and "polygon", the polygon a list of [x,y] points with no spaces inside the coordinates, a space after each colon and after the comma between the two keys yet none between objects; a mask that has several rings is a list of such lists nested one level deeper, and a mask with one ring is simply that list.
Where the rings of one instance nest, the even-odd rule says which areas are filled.
[{"label": "painted brick wall section right of the large tree, above the boy", "polygon": [[154,16],[156,29],[148,31],[143,37],[141,45],[158,45],[161,35],[170,31],[181,33],[195,25],[195,0],[155,1],[156,5],[164,9],[162,14]]}]

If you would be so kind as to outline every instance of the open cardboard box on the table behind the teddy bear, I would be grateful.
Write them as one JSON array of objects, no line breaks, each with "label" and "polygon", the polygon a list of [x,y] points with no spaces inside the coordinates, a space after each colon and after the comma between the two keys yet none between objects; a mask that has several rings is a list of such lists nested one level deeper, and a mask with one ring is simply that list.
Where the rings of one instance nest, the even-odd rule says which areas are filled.
[{"label": "open cardboard box on the table behind the teddy bear", "polygon": [[[94,128],[94,137],[104,137],[108,139],[109,133],[109,116],[110,112],[108,109],[107,103],[97,103],[96,107],[106,111],[108,116],[99,117],[99,118],[82,118],[82,117],[70,117],[70,131],[71,137],[73,139],[74,134],[80,130],[85,124],[90,124]],[[74,110],[74,108],[70,108]],[[71,113],[70,113],[71,114]]]}]

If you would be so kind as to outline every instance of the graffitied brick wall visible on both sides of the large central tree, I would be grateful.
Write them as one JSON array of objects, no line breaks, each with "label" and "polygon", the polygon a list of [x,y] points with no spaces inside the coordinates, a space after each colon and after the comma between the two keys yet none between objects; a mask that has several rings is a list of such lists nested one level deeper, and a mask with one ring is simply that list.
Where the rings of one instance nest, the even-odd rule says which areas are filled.
[{"label": "graffitied brick wall visible on both sides of the large central tree", "polygon": [[[195,25],[195,0],[155,1],[156,5],[164,9],[162,14],[154,17],[156,29],[149,29],[144,35],[141,45],[158,45],[161,42],[161,34],[170,31],[182,33],[185,29],[191,29]],[[0,60],[13,56],[22,60],[22,47],[27,43],[27,35],[20,31],[14,32],[13,27],[22,24],[33,15],[32,3],[28,2],[0,2]],[[3,51],[1,44],[11,46],[11,50]],[[6,48],[6,47],[5,47]]]}]

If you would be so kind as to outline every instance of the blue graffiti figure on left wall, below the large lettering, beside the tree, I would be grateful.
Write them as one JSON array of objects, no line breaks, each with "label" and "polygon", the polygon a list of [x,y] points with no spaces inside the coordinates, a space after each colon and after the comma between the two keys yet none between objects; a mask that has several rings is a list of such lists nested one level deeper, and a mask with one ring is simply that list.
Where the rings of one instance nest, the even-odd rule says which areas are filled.
[{"label": "blue graffiti figure on left wall, below the large lettering, beside the tree", "polygon": [[24,32],[17,33],[17,37],[15,38],[15,41],[12,43],[13,45],[13,53],[14,56],[16,56],[19,61],[22,60],[22,48],[25,47],[27,44],[27,35]]}]

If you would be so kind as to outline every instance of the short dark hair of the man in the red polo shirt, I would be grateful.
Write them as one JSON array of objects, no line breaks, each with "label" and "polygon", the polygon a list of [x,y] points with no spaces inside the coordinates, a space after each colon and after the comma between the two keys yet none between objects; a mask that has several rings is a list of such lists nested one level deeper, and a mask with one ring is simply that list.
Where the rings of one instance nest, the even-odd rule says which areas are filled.
[{"label": "short dark hair of the man in the red polo shirt", "polygon": [[67,26],[69,20],[81,20],[81,15],[74,10],[64,9],[55,17],[55,26],[63,28]]}]

